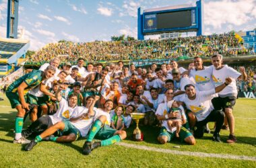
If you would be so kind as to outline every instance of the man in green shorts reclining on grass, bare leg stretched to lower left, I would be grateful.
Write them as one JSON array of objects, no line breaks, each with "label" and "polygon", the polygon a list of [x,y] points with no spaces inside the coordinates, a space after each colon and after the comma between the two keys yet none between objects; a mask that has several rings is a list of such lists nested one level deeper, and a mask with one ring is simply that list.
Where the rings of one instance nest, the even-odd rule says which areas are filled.
[{"label": "man in green shorts reclining on grass, bare leg stretched to lower left", "polygon": [[[51,140],[55,142],[73,142],[80,136],[86,136],[94,122],[94,104],[100,97],[88,96],[86,98],[86,108],[73,112],[73,116],[68,120],[57,122],[46,129],[42,134],[36,136],[34,140],[25,147],[25,151],[31,151],[41,140]],[[52,136],[57,130],[61,130],[63,136]]]}]

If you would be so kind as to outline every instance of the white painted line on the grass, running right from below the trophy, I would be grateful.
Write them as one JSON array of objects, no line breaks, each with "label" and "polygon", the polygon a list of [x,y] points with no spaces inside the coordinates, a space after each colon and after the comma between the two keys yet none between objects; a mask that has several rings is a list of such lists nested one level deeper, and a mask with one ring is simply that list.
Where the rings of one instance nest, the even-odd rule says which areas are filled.
[{"label": "white painted line on the grass, running right from below the trophy", "polygon": [[117,145],[133,148],[133,149],[141,149],[145,151],[169,153],[172,155],[186,155],[186,156],[193,156],[193,157],[212,157],[212,158],[221,158],[221,159],[234,159],[234,160],[241,160],[241,161],[256,161],[256,157],[249,157],[249,156],[243,156],[243,155],[239,156],[239,155],[226,155],[226,154],[216,154],[216,153],[177,151],[177,150],[170,150],[170,149],[159,149],[156,147],[137,145],[137,144],[127,144],[125,142],[119,142],[117,143]]}]

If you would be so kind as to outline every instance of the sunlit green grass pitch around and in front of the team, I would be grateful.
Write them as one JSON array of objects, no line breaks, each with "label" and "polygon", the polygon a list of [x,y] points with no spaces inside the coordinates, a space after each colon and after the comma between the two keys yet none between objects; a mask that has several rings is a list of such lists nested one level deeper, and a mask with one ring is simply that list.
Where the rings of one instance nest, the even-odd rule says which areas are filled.
[{"label": "sunlit green grass pitch around and in front of the team", "polygon": [[[23,151],[21,144],[13,144],[13,128],[16,111],[11,109],[9,100],[3,93],[0,97],[0,167],[256,167],[256,161],[195,157],[193,155],[172,155],[156,151],[144,151],[125,146],[112,145],[100,147],[91,155],[82,155],[85,139],[70,144],[40,142],[30,152]],[[221,130],[222,143],[212,142],[212,134],[196,139],[195,146],[189,146],[174,140],[168,144],[158,144],[157,127],[140,126],[144,133],[143,142],[130,140],[135,126],[127,130],[127,144],[151,146],[158,149],[214,153],[224,155],[245,155],[256,157],[256,99],[237,99],[234,106],[236,144],[227,144],[229,131]],[[25,128],[30,122],[27,120]],[[210,123],[210,128],[214,123]],[[181,148],[173,148],[181,146]]]}]

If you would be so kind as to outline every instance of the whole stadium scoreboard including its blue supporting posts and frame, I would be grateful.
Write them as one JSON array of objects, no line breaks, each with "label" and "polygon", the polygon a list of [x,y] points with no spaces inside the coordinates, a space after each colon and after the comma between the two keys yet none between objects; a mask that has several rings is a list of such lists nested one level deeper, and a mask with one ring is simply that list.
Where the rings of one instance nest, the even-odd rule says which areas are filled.
[{"label": "whole stadium scoreboard including its blue supporting posts and frame", "polygon": [[166,32],[196,31],[197,36],[203,32],[202,0],[195,6],[180,5],[179,7],[160,7],[144,10],[138,9],[138,39],[150,34]]}]

